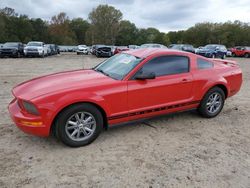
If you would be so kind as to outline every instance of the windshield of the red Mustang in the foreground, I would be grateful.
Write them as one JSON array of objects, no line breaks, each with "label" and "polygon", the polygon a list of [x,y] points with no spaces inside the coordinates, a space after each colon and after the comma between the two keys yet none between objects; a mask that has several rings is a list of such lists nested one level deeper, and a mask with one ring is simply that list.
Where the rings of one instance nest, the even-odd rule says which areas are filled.
[{"label": "windshield of the red Mustang in the foreground", "polygon": [[140,58],[122,53],[107,59],[94,70],[113,79],[122,80],[140,62]]}]

